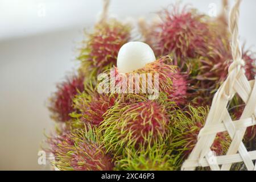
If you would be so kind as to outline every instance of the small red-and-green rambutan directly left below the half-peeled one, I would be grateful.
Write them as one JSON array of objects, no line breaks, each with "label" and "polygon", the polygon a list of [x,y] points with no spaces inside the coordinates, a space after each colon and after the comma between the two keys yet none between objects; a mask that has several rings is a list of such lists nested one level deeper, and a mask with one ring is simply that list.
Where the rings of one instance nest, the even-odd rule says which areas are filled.
[{"label": "small red-and-green rambutan directly left below the half-peeled one", "polygon": [[83,92],[74,99],[74,107],[79,110],[76,117],[83,123],[98,126],[104,120],[104,114],[115,104],[116,97],[110,94]]}]

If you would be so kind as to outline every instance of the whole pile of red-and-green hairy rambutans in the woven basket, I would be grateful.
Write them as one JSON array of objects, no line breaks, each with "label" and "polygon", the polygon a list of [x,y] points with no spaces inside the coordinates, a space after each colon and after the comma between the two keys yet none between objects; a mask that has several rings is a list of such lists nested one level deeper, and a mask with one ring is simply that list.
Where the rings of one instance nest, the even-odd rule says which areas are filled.
[{"label": "whole pile of red-and-green hairy rambutans in the woven basket", "polygon": [[[133,73],[158,73],[155,99],[142,90],[97,91],[98,75],[108,76],[110,69],[115,76],[122,74],[117,67],[118,52],[134,40],[132,24],[105,18],[86,33],[79,70],[58,84],[49,99],[57,126],[46,142],[46,150],[55,157],[53,166],[61,170],[180,169],[196,144],[213,95],[232,62],[224,16],[211,18],[180,6],[160,11],[159,22],[141,28],[147,32],[138,32],[142,36],[137,36],[137,41],[150,45],[156,61]],[[254,54],[244,50],[243,60],[247,78],[254,79]],[[229,105],[233,119],[240,119],[243,102],[235,97]],[[250,127],[245,137],[247,147],[255,146],[255,140],[256,129]],[[219,133],[212,151],[224,155],[229,145],[229,135]]]}]

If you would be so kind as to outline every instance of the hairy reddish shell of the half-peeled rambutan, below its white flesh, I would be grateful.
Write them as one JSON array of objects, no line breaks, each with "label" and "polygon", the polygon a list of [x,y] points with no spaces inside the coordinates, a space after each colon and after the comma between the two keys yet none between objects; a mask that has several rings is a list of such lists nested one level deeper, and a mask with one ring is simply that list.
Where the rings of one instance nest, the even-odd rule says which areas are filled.
[{"label": "hairy reddish shell of the half-peeled rambutan, below its white flesh", "polygon": [[[149,96],[155,92],[164,92],[170,101],[183,105],[188,96],[188,82],[186,76],[176,71],[175,66],[166,64],[170,61],[172,61],[170,57],[164,56],[132,73],[119,73],[117,68],[111,69],[110,72],[106,72],[109,76],[102,81],[103,83],[101,82],[101,85],[110,85],[110,88],[114,88],[114,92],[109,87],[106,88],[107,93],[134,93]],[[148,75],[151,78],[150,81]],[[125,89],[122,88],[123,85],[126,85]]]}]

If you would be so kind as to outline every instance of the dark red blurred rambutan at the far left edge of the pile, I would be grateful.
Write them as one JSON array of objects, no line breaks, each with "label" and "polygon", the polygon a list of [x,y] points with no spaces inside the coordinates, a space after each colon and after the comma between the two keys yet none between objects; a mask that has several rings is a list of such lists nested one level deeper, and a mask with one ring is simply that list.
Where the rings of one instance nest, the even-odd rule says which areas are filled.
[{"label": "dark red blurred rambutan at the far left edge of the pile", "polygon": [[68,77],[66,81],[57,85],[57,92],[50,98],[49,110],[55,121],[66,122],[71,119],[69,114],[73,108],[73,98],[84,90],[84,76]]}]

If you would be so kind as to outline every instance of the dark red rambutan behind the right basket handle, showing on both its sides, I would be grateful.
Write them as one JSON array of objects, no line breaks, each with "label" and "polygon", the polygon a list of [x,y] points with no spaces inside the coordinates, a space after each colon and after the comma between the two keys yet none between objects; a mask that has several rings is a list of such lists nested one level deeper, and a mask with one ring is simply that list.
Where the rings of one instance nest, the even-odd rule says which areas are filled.
[{"label": "dark red rambutan behind the right basket handle, showing on both its sides", "polygon": [[[217,31],[217,30],[216,30]],[[232,63],[229,38],[221,36],[212,41],[207,57],[201,57],[200,73],[196,76],[201,81],[201,88],[216,89],[228,76],[228,68]],[[246,77],[253,80],[255,76],[255,58],[249,51],[243,51],[242,59],[245,61]]]}]

